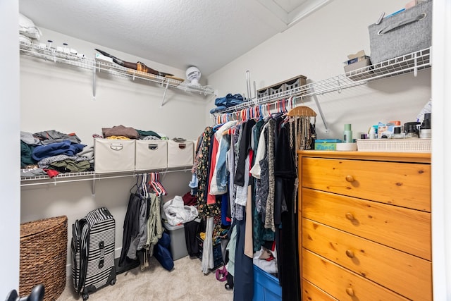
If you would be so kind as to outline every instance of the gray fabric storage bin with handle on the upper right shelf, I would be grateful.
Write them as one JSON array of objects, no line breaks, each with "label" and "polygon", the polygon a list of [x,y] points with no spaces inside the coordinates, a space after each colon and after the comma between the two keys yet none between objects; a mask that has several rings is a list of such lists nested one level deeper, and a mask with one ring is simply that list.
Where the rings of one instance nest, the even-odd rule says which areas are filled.
[{"label": "gray fabric storage bin with handle on the upper right shelf", "polygon": [[373,64],[431,47],[432,1],[385,17],[380,24],[369,25],[368,30]]}]

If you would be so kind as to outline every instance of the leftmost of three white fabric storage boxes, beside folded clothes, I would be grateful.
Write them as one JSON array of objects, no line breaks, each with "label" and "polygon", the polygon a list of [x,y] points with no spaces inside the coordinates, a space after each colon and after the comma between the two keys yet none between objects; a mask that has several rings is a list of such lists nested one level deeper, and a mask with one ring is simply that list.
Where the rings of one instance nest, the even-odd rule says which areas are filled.
[{"label": "leftmost of three white fabric storage boxes, beside folded clothes", "polygon": [[135,171],[135,140],[94,139],[94,171]]}]

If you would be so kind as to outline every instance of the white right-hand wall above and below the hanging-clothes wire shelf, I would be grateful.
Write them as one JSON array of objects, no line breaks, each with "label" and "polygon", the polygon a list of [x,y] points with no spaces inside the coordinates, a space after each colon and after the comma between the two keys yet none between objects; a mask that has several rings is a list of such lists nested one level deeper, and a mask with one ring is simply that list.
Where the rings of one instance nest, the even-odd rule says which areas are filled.
[{"label": "white right-hand wall above and below the hanging-clothes wire shelf", "polygon": [[[325,80],[344,73],[348,54],[369,49],[368,26],[382,11],[388,15],[403,7],[405,1],[335,0],[307,16],[295,26],[268,39],[239,59],[209,76],[209,85],[223,96],[247,91],[245,71],[251,73],[257,90],[292,78],[307,76],[307,81]],[[354,138],[367,133],[378,121],[416,121],[416,115],[431,98],[431,71],[418,76],[402,75],[396,80],[371,82],[341,93],[319,95],[318,100],[330,127],[326,133],[321,117],[316,117],[318,137],[341,138],[345,123],[352,124]],[[305,105],[319,113],[311,99]],[[214,107],[209,102],[207,111]],[[212,123],[211,119],[206,123]]]}]

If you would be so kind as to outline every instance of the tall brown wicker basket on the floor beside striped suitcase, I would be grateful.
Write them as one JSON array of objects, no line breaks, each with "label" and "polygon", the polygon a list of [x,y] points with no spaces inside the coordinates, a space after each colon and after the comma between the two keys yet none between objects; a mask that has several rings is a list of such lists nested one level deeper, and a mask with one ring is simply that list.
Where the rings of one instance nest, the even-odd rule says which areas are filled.
[{"label": "tall brown wicker basket on the floor beside striped suitcase", "polygon": [[68,218],[57,216],[20,224],[19,295],[44,285],[44,300],[56,300],[66,287]]}]

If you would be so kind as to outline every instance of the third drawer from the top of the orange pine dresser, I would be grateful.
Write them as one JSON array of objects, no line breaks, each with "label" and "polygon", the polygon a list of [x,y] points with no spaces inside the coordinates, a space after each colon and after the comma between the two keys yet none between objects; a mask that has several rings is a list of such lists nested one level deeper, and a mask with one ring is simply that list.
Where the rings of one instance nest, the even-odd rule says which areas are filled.
[{"label": "third drawer from the top of the orange pine dresser", "polygon": [[425,259],[309,219],[302,219],[302,247],[409,299],[432,300],[432,264]]}]

